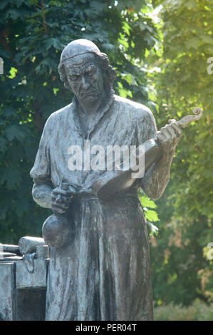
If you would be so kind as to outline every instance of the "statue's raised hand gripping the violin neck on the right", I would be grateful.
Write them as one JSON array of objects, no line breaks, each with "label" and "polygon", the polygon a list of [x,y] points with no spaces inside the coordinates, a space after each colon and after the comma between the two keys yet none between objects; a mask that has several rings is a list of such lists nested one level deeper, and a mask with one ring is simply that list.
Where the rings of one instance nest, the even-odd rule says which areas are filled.
[{"label": "statue's raised hand gripping the violin neck on the right", "polygon": [[157,132],[157,139],[162,147],[162,153],[170,155],[174,153],[177,143],[182,136],[182,129],[177,122],[172,122],[170,125],[165,125]]}]

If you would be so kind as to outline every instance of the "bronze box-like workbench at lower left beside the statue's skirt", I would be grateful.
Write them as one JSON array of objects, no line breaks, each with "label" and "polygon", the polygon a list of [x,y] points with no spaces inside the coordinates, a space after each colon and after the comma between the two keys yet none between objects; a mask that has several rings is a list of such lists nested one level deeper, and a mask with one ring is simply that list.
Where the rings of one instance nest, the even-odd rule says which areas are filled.
[{"label": "bronze box-like workbench at lower left beside the statue's skirt", "polygon": [[0,260],[1,321],[45,319],[48,258],[36,258],[43,254],[41,249],[36,254],[35,259]]}]

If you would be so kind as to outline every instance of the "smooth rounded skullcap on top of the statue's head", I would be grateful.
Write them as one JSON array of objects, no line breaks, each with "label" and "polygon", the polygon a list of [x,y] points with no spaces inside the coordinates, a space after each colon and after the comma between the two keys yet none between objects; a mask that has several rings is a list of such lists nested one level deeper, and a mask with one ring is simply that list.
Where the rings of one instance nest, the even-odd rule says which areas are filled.
[{"label": "smooth rounded skullcap on top of the statue's head", "polygon": [[87,39],[77,39],[68,43],[61,53],[61,63],[68,58],[73,58],[84,53],[100,53],[98,46]]}]

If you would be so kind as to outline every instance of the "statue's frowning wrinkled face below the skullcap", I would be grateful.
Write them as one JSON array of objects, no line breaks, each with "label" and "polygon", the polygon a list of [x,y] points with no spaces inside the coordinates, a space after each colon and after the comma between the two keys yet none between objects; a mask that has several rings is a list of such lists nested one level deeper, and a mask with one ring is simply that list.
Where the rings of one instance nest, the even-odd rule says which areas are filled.
[{"label": "statue's frowning wrinkled face below the skullcap", "polygon": [[78,101],[93,103],[103,93],[103,75],[100,66],[95,62],[95,55],[85,53],[64,62],[68,86]]}]

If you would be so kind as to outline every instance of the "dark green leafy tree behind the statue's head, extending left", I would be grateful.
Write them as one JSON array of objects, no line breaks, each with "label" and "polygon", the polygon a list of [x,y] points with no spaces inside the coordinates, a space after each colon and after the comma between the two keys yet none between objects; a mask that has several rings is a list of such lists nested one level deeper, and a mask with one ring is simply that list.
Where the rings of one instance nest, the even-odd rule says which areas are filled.
[{"label": "dark green leafy tree behind the statue's head, extending left", "polygon": [[33,202],[29,172],[46,119],[72,99],[57,72],[63,47],[76,38],[96,43],[118,72],[116,93],[147,104],[139,63],[157,30],[151,1],[2,0],[0,9],[0,241],[17,243],[41,236],[50,212]]}]

